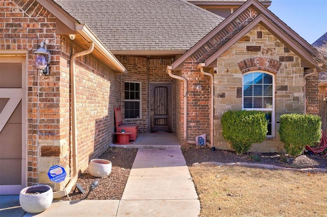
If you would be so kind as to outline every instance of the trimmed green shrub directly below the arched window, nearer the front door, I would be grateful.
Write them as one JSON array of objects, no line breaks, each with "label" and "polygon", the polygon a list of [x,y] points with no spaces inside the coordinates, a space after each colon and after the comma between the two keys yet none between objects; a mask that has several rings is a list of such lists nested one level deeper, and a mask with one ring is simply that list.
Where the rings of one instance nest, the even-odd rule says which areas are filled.
[{"label": "trimmed green shrub directly below the arched window, nearer the front door", "polygon": [[222,115],[223,138],[243,154],[252,143],[261,143],[267,134],[268,121],[260,111],[228,111]]}]

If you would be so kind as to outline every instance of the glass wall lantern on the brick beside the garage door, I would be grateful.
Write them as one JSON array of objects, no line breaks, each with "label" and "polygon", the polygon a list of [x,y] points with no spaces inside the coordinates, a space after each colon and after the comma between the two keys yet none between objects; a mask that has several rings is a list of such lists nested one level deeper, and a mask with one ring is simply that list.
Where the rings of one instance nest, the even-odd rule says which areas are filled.
[{"label": "glass wall lantern on the brick beside the garage door", "polygon": [[51,54],[48,50],[46,50],[46,43],[42,41],[40,44],[40,48],[34,51],[35,58],[35,66],[40,69],[44,75],[49,75],[49,63],[51,61]]}]

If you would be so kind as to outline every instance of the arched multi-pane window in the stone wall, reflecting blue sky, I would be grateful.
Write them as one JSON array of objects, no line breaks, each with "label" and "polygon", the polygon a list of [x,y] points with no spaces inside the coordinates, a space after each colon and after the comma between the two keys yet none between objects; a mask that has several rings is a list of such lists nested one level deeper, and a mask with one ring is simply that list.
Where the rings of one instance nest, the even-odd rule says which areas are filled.
[{"label": "arched multi-pane window in the stone wall, reflecting blue sky", "polygon": [[272,74],[250,72],[243,75],[243,109],[266,113],[267,137],[274,137],[274,79]]}]

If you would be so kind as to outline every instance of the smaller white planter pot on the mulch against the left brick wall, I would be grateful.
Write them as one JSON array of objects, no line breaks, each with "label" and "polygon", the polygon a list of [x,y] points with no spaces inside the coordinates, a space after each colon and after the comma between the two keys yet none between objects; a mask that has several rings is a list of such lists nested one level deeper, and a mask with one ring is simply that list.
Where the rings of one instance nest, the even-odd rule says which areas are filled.
[{"label": "smaller white planter pot on the mulch against the left brick wall", "polygon": [[111,173],[111,162],[105,159],[91,159],[88,165],[91,176],[104,177]]}]

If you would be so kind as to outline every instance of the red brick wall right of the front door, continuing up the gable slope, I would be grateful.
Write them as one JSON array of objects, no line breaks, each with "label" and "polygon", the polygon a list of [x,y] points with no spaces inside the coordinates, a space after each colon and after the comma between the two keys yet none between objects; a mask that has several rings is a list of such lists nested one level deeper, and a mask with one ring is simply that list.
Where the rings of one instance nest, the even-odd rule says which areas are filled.
[{"label": "red brick wall right of the front door, continuing up the gable slope", "polygon": [[[182,146],[187,146],[183,140],[183,106],[188,107],[188,119],[186,125],[186,139],[195,141],[195,137],[199,134],[206,134],[210,138],[210,122],[209,106],[210,106],[210,79],[204,76],[196,66],[212,56],[219,48],[226,44],[229,39],[240,32],[249,22],[251,22],[258,13],[253,8],[248,8],[230,23],[225,28],[218,32],[213,38],[209,39],[197,51],[184,62],[183,70],[180,76],[188,80],[188,101],[187,105],[183,105],[183,92],[176,92],[176,100],[179,99],[181,107],[176,106],[176,134],[181,141]],[[176,72],[173,72],[177,74]],[[181,83],[181,82],[179,82]],[[203,90],[194,91],[193,86],[200,83]],[[176,101],[178,102],[178,101]],[[178,103],[176,103],[177,105]],[[217,108],[215,107],[215,110]],[[179,131],[177,131],[177,129]],[[199,130],[198,130],[199,129]],[[213,143],[213,141],[211,141]]]}]

